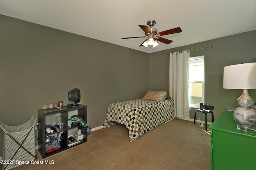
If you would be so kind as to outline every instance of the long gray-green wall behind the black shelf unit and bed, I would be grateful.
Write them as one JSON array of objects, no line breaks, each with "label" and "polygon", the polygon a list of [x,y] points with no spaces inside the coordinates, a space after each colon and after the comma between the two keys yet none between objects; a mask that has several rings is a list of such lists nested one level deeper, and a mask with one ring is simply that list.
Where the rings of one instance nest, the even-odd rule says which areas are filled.
[{"label": "long gray-green wall behind the black shelf unit and bed", "polygon": [[94,128],[110,103],[149,89],[148,53],[2,15],[0,25],[0,122],[23,124],[76,87]]}]

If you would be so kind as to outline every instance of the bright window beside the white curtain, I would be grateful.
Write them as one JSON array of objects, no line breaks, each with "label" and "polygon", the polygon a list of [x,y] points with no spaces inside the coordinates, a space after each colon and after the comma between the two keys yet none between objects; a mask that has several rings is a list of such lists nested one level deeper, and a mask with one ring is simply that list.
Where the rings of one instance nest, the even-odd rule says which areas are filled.
[{"label": "bright window beside the white curtain", "polygon": [[204,56],[189,59],[188,103],[194,108],[204,103]]}]

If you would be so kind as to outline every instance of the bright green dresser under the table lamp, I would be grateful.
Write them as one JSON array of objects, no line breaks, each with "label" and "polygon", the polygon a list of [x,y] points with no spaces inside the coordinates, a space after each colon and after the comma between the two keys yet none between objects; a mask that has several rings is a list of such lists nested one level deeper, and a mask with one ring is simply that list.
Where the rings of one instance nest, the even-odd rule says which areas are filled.
[{"label": "bright green dresser under the table lamp", "polygon": [[209,128],[212,170],[256,170],[256,131],[238,130],[233,111],[224,111]]}]

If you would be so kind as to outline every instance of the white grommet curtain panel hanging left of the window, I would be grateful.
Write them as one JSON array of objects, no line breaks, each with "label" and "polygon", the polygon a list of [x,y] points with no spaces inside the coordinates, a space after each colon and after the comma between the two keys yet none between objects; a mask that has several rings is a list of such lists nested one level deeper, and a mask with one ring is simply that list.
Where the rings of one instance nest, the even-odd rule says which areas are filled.
[{"label": "white grommet curtain panel hanging left of the window", "polygon": [[169,94],[176,117],[189,118],[188,109],[189,51],[170,53]]}]

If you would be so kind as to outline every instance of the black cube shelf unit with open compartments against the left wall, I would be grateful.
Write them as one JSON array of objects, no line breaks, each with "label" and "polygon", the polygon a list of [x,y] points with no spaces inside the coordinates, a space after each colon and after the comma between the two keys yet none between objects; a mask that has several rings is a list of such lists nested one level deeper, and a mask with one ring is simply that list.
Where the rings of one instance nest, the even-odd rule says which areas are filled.
[{"label": "black cube shelf unit with open compartments against the left wall", "polygon": [[[82,127],[80,125],[69,127],[68,126],[68,119],[72,115],[79,115],[82,118],[85,118],[87,122],[87,106],[80,104],[78,107],[66,107],[63,106],[58,109],[48,109],[48,110],[38,110],[38,150],[42,156],[42,158],[46,158],[48,156],[51,156],[53,154],[56,154],[58,152],[62,152],[63,150],[72,148],[76,145],[80,145],[82,143],[87,142],[87,127]],[[45,147],[45,137],[46,137],[46,125],[55,125],[55,118],[56,117],[62,117],[62,123],[63,128],[60,128],[60,132],[63,132],[61,134],[61,141],[60,141],[60,149],[55,150],[50,153],[46,153],[46,147]],[[77,133],[77,131],[81,129],[82,134],[84,135],[84,139],[72,146],[68,146],[68,137],[72,136],[74,133]],[[54,132],[57,133],[57,132]],[[52,134],[52,133],[51,133]]]}]

